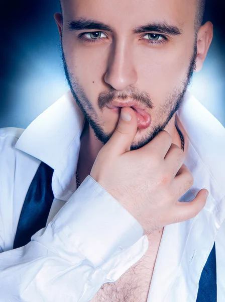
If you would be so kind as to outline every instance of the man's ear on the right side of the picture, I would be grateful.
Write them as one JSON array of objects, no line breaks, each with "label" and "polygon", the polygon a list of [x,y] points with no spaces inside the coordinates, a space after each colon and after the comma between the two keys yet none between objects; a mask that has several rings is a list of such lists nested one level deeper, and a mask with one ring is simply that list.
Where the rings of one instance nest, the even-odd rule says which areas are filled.
[{"label": "man's ear on the right side of the picture", "polygon": [[197,58],[196,68],[194,71],[201,70],[203,62],[208,52],[213,37],[213,25],[211,22],[206,22],[202,25],[197,34]]}]

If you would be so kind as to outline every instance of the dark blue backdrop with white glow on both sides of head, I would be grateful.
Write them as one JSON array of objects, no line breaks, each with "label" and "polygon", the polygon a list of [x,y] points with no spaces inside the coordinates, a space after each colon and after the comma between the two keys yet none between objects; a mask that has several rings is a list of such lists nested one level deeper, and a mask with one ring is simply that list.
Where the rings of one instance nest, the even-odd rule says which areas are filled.
[{"label": "dark blue backdrop with white glow on both sides of head", "polygon": [[[213,23],[214,38],[189,90],[225,126],[223,3],[206,3],[204,21]],[[53,18],[59,4],[57,0],[0,0],[0,8],[0,128],[26,128],[68,90]]]}]

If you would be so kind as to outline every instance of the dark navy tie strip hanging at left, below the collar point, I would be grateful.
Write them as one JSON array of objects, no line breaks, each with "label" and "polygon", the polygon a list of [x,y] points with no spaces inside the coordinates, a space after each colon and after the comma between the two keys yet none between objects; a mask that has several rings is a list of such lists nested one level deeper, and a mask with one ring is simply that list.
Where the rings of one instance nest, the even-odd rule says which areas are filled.
[{"label": "dark navy tie strip hanging at left, below the collar point", "polygon": [[14,249],[25,246],[31,237],[45,228],[54,195],[52,175],[54,170],[41,162],[28,189],[20,214]]}]

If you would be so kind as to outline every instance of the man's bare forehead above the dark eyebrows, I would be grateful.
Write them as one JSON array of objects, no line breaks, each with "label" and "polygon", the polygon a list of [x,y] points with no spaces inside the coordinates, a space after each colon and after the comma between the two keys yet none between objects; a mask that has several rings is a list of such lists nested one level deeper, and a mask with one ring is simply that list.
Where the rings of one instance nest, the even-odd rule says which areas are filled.
[{"label": "man's bare forehead above the dark eyebrows", "polygon": [[197,0],[61,0],[64,19],[96,19],[117,29],[147,22],[193,25]]}]

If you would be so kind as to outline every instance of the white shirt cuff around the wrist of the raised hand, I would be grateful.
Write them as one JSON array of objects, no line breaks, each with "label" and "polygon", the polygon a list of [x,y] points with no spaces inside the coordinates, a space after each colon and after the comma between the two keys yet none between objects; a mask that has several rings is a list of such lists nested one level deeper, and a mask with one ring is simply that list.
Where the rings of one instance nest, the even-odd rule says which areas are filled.
[{"label": "white shirt cuff around the wrist of the raised hand", "polygon": [[[144,233],[141,224],[90,175],[48,228],[60,238],[54,249],[60,251],[62,257],[73,262],[72,251],[78,249],[86,259],[96,267],[104,267],[106,272],[118,260],[117,255],[137,243]],[[140,244],[143,246],[143,242]],[[141,248],[139,259],[143,254]]]}]

